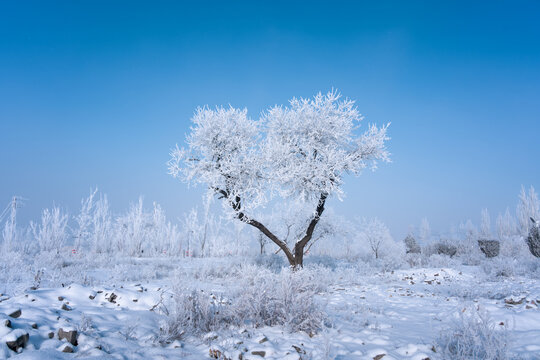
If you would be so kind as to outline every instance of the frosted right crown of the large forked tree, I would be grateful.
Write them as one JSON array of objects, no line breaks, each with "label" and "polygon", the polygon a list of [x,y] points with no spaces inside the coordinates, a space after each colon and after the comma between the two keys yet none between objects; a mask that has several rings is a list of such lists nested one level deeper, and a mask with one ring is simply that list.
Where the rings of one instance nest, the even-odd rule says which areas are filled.
[{"label": "frosted right crown of the large forked tree", "polygon": [[262,150],[273,189],[282,196],[306,199],[320,194],[341,197],[345,173],[358,175],[369,163],[375,167],[377,160],[388,161],[388,125],[371,125],[355,136],[361,120],[354,101],[340,101],[335,91],[313,99],[293,98],[290,107],[268,110],[263,116],[267,136]]}]

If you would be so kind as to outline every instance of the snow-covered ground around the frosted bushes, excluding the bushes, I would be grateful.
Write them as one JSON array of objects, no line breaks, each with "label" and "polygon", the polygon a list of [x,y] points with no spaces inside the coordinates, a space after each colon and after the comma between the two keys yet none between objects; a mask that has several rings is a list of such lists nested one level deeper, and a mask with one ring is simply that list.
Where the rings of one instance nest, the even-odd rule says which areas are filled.
[{"label": "snow-covered ground around the frosted bushes, excluding the bushes", "polygon": [[[391,272],[307,267],[303,271],[322,284],[315,295],[324,318],[319,331],[246,323],[167,337],[167,313],[179,292],[197,289],[216,298],[236,288],[240,296],[246,273],[268,271],[250,266],[238,259],[154,259],[127,270],[162,270],[149,280],[94,269],[87,271],[92,279],[85,278],[86,285],[29,285],[0,297],[0,358],[439,359],[449,345],[445,335],[459,339],[476,324],[493,335],[484,342],[507,343],[508,358],[540,359],[540,282],[492,278],[472,266]],[[77,331],[71,339],[70,331]]]}]

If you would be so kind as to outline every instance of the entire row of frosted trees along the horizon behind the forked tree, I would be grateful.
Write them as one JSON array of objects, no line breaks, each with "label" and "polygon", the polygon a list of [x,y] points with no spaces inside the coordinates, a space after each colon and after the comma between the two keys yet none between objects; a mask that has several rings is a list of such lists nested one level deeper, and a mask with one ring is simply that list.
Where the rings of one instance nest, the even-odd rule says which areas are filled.
[{"label": "entire row of frosted trees along the horizon behind the forked tree", "polygon": [[[379,219],[346,219],[329,209],[305,252],[349,260],[384,260],[401,257],[405,251],[422,252],[428,256],[442,251],[443,255],[471,257],[468,262],[474,262],[474,257],[482,256],[478,240],[497,240],[501,255],[519,258],[529,252],[530,218],[540,217],[538,207],[534,189],[528,192],[522,189],[515,215],[506,210],[497,217],[495,226],[492,226],[486,209],[481,212],[478,226],[467,220],[440,236],[434,236],[429,222],[423,219],[418,230],[411,231],[405,243],[394,241],[389,229]],[[17,204],[12,202],[4,211],[1,236],[4,253],[63,251],[133,257],[205,257],[280,251],[266,237],[257,236],[242,223],[234,222],[236,226],[225,224],[227,220],[212,214],[209,201],[203,202],[202,211],[192,209],[177,224],[167,220],[158,204],[145,207],[142,198],[127,212],[113,215],[107,196],[97,191],[92,191],[81,201],[81,209],[76,216],[69,216],[54,207],[45,209],[39,222],[18,228],[16,210]],[[309,216],[310,212],[302,206],[291,206],[285,211],[275,209],[269,216],[269,226],[281,229],[282,233],[278,235],[289,244],[302,234]],[[282,224],[285,226],[278,226]],[[325,241],[325,238],[331,241]]]}]

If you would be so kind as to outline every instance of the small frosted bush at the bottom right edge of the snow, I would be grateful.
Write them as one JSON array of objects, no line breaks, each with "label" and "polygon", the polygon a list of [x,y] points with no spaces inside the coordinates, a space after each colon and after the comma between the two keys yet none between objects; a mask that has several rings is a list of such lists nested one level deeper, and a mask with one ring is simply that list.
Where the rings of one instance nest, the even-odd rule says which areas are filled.
[{"label": "small frosted bush at the bottom right edge of the snow", "polygon": [[459,311],[458,318],[437,339],[435,348],[442,359],[504,360],[508,359],[508,332],[495,323],[489,313],[470,306]]}]

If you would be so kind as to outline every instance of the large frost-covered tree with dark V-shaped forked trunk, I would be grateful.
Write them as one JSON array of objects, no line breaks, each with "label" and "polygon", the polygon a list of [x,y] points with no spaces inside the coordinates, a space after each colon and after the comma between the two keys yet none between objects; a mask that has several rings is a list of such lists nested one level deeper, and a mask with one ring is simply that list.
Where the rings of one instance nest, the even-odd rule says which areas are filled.
[{"label": "large frost-covered tree with dark V-shaped forked trunk", "polygon": [[[344,175],[359,175],[368,166],[374,169],[377,161],[389,161],[387,125],[370,125],[357,134],[361,120],[354,102],[342,100],[335,91],[293,98],[288,107],[272,107],[259,121],[251,120],[246,109],[199,108],[188,148],[173,150],[169,172],[206,185],[232,218],[267,236],[291,266],[302,266],[304,248],[327,199],[343,196]],[[254,209],[274,195],[312,206],[311,218],[292,248],[252,217]]]}]

